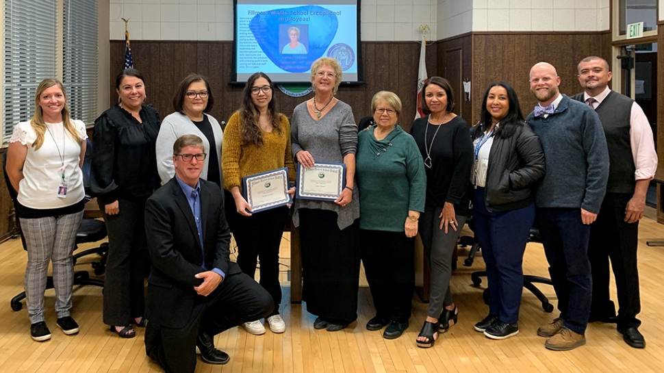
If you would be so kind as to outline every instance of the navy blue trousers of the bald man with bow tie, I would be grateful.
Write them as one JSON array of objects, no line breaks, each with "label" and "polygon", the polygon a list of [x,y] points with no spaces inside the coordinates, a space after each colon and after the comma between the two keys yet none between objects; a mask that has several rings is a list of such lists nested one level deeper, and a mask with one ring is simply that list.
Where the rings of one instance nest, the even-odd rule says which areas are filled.
[{"label": "navy blue trousers of the bald man with bow tie", "polygon": [[590,225],[581,222],[578,208],[537,208],[537,224],[560,317],[567,329],[584,334],[592,299]]}]

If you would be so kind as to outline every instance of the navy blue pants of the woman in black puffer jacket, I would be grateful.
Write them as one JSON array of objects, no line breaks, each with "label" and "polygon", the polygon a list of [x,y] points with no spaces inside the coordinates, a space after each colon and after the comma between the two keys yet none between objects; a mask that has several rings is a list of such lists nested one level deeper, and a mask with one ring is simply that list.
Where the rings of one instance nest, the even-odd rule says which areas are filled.
[{"label": "navy blue pants of the woman in black puffer jacket", "polygon": [[487,211],[485,188],[474,190],[472,204],[473,229],[487,266],[489,313],[502,322],[515,324],[519,321],[524,251],[535,222],[535,205],[512,211]]}]

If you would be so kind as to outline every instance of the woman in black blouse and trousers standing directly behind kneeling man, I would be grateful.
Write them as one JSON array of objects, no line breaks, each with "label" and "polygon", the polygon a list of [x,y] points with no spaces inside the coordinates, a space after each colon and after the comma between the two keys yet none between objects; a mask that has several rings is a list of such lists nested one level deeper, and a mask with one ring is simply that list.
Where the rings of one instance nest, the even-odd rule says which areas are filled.
[{"label": "woman in black blouse and trousers standing directly behind kneeling man", "polygon": [[90,186],[108,231],[103,321],[123,338],[144,326],[143,268],[146,250],[143,210],[159,188],[155,142],[159,114],[143,105],[145,84],[127,68],[116,79],[118,105],[94,121]]}]

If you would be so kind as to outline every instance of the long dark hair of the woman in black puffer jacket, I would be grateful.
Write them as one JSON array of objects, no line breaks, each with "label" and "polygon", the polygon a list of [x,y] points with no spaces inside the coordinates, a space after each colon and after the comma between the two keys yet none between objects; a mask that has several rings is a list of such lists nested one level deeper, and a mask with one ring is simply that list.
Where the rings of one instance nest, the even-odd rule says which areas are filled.
[{"label": "long dark hair of the woman in black puffer jacket", "polygon": [[505,88],[507,91],[507,100],[509,101],[509,107],[507,109],[507,115],[505,118],[500,120],[500,127],[494,131],[494,136],[499,138],[509,138],[514,134],[517,127],[524,125],[526,121],[524,120],[524,115],[521,113],[521,107],[519,106],[519,98],[516,96],[516,91],[509,83],[505,81],[496,81],[491,83],[487,88],[487,92],[484,93],[484,99],[482,100],[482,114],[480,116],[481,122],[478,123],[474,130],[472,131],[472,137],[478,138],[485,133],[489,128],[491,128],[491,113],[487,110],[487,100],[489,99],[489,91],[495,86],[500,86]]}]

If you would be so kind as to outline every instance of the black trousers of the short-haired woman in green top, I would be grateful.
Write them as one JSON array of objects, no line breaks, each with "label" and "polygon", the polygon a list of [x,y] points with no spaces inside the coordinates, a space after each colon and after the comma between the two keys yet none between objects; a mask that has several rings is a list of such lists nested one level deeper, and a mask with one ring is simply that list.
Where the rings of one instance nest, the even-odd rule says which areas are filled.
[{"label": "black trousers of the short-haired woman in green top", "polygon": [[359,230],[360,250],[376,315],[407,322],[415,290],[415,237]]}]

